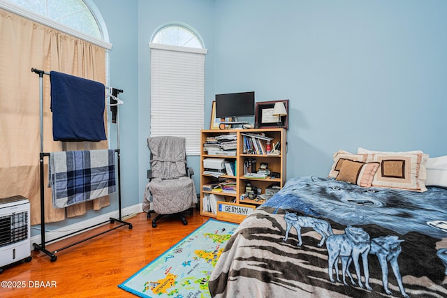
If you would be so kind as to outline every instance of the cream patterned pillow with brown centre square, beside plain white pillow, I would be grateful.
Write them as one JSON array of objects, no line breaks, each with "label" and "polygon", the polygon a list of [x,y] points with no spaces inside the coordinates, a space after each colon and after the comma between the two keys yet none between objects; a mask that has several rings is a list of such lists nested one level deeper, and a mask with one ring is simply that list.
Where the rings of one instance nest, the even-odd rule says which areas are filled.
[{"label": "cream patterned pillow with brown centre square, beside plain white pillow", "polygon": [[425,187],[427,160],[428,154],[423,153],[368,154],[368,163],[380,163],[372,180],[372,186],[427,191]]}]

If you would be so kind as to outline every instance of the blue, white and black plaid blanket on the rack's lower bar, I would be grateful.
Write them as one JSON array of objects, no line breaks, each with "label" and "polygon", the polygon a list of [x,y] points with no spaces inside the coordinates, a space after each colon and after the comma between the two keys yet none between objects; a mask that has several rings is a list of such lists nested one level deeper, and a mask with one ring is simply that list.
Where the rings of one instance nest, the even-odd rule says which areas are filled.
[{"label": "blue, white and black plaid blanket on the rack's lower bar", "polygon": [[115,150],[51,152],[52,202],[64,208],[116,192]]}]

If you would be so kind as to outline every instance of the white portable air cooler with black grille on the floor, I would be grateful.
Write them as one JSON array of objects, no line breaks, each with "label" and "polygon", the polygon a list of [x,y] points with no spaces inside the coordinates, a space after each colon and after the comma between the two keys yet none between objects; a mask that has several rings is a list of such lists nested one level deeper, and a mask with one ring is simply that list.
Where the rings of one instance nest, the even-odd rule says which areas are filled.
[{"label": "white portable air cooler with black grille on the floor", "polygon": [[14,262],[31,261],[29,200],[17,195],[0,199],[0,273]]}]

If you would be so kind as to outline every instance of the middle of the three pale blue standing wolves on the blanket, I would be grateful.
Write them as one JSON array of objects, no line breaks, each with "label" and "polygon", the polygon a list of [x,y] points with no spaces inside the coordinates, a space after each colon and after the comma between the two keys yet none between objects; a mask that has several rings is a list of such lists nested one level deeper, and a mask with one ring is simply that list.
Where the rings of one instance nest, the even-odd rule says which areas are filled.
[{"label": "middle of the three pale blue standing wolves on the blanket", "polygon": [[[354,262],[356,267],[356,274],[358,278],[358,285],[363,288],[362,278],[360,274],[360,257],[362,258],[363,274],[365,274],[365,287],[367,290],[372,290],[369,286],[369,268],[368,268],[368,253],[371,250],[371,239],[369,234],[362,228],[347,227],[344,229],[344,234],[331,235],[326,241],[326,248],[328,248],[328,273],[329,279],[332,283],[335,282],[332,277],[333,269],[335,267],[335,274],[337,281],[339,281],[339,271],[337,262],[342,260],[342,274],[343,283],[346,283],[346,271],[351,263]],[[352,276],[349,274],[349,277]],[[355,284],[353,282],[353,284]]]}]

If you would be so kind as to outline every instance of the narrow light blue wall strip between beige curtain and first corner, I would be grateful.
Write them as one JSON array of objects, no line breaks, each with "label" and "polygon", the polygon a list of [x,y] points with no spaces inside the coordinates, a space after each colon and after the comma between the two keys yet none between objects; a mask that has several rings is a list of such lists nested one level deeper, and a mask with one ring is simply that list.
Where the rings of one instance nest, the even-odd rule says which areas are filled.
[{"label": "narrow light blue wall strip between beige curtain and first corner", "polygon": [[[94,0],[108,29],[110,86],[122,89],[119,98],[119,149],[121,151],[122,207],[140,202],[138,194],[138,3]],[[110,124],[110,144],[117,145],[117,125]],[[117,197],[111,199],[115,210]]]}]

